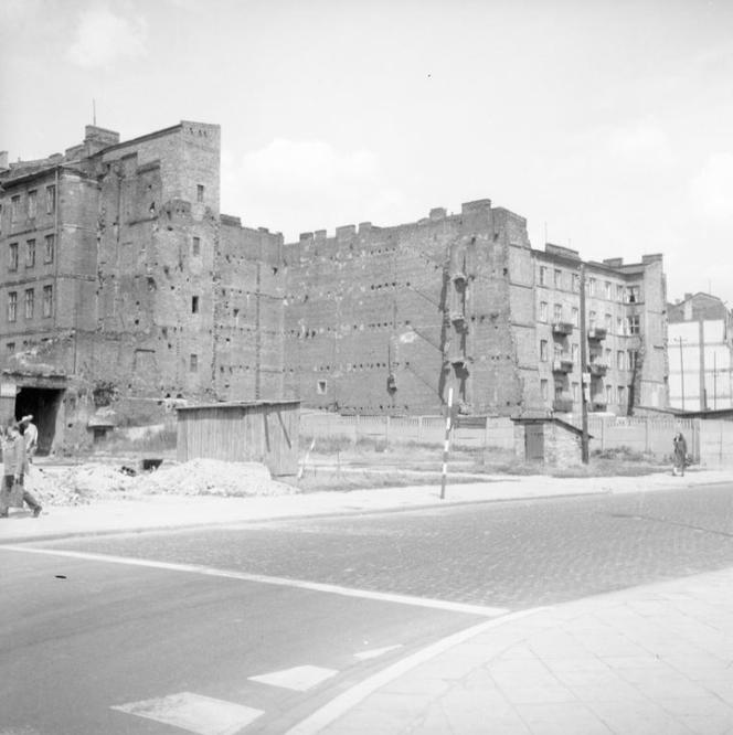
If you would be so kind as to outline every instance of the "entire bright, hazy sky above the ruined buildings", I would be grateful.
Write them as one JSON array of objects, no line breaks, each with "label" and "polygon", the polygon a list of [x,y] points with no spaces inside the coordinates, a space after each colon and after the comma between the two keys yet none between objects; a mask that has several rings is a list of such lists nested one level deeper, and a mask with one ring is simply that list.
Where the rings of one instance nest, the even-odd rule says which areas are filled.
[{"label": "entire bright, hazy sky above the ruined buildings", "polygon": [[0,149],[222,126],[222,212],[300,232],[490,199],[733,306],[731,0],[0,0]]}]

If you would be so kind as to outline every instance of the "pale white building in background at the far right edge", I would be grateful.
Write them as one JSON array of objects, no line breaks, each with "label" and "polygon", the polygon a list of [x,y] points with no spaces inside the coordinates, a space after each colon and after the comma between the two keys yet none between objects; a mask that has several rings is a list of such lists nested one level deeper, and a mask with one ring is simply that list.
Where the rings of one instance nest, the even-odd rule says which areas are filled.
[{"label": "pale white building in background at the far right edge", "polygon": [[686,294],[667,313],[670,407],[733,408],[733,313],[701,292]]}]

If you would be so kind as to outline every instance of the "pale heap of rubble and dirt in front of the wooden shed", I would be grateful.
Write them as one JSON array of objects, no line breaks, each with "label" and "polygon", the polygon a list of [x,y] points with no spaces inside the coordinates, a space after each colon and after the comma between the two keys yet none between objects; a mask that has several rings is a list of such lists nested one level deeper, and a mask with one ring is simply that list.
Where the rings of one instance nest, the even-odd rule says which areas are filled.
[{"label": "pale heap of rubble and dirt in front of the wooden shed", "polygon": [[159,469],[137,475],[127,467],[106,464],[33,467],[26,487],[42,504],[49,505],[79,505],[95,499],[140,494],[245,498],[296,492],[296,488],[273,480],[264,465],[215,459],[163,462]]}]

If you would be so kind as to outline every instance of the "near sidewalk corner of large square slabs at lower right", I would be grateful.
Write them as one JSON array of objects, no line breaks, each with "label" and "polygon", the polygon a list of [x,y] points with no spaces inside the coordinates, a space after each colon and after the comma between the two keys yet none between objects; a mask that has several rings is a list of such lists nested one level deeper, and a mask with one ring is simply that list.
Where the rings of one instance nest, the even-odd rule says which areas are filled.
[{"label": "near sidewalk corner of large square slabs at lower right", "polygon": [[733,569],[508,616],[408,665],[290,735],[731,733]]}]

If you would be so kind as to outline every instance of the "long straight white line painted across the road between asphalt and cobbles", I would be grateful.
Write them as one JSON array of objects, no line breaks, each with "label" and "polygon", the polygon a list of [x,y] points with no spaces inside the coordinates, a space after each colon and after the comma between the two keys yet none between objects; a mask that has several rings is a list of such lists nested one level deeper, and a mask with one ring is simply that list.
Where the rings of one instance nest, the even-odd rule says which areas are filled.
[{"label": "long straight white line painted across the road between asphalt and cobbles", "polygon": [[107,562],[108,564],[145,566],[153,569],[169,569],[171,572],[202,574],[210,577],[226,577],[229,579],[256,582],[264,585],[279,585],[281,587],[295,587],[297,589],[308,589],[311,592],[330,593],[332,595],[343,595],[344,597],[361,597],[363,599],[374,599],[381,603],[396,603],[400,605],[412,605],[414,607],[428,607],[435,610],[448,610],[450,612],[467,612],[470,615],[480,615],[488,618],[497,618],[509,612],[509,610],[503,607],[467,605],[464,603],[450,603],[444,599],[432,599],[429,597],[413,597],[412,595],[380,593],[372,592],[370,589],[358,589],[353,587],[341,587],[339,585],[321,584],[318,582],[289,579],[287,577],[270,577],[263,574],[247,574],[246,572],[235,572],[232,569],[216,569],[214,567],[202,566],[199,564],[176,564],[172,562],[156,562],[153,560],[134,558],[130,556],[113,556],[108,554],[91,554],[86,552],[35,548],[33,546],[15,546],[12,544],[0,545],[0,550],[23,552],[26,554],[45,554],[47,556],[65,556],[67,558],[79,558],[89,562]]}]

